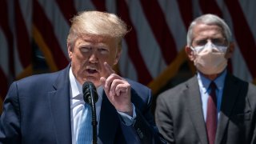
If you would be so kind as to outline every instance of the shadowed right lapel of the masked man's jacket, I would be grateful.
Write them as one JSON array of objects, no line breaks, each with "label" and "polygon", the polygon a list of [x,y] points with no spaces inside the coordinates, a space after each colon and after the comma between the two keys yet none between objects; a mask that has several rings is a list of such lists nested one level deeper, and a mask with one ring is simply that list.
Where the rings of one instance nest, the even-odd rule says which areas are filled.
[{"label": "shadowed right lapel of the masked man's jacket", "polygon": [[238,81],[236,81],[232,75],[227,74],[222,95],[222,105],[220,117],[218,119],[215,143],[221,143],[223,135],[226,132],[226,128],[230,120],[230,114],[234,108],[234,103],[239,94],[239,87],[240,86],[238,85]]}]

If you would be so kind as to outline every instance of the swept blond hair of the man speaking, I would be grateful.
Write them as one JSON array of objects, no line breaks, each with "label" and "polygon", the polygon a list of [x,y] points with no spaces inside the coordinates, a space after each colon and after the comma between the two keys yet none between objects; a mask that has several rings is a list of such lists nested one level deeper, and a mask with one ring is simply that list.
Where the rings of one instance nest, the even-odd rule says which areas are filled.
[{"label": "swept blond hair of the man speaking", "polygon": [[71,20],[67,44],[74,46],[75,40],[84,34],[117,38],[121,47],[122,38],[129,31],[126,23],[115,14],[100,11],[82,11]]}]

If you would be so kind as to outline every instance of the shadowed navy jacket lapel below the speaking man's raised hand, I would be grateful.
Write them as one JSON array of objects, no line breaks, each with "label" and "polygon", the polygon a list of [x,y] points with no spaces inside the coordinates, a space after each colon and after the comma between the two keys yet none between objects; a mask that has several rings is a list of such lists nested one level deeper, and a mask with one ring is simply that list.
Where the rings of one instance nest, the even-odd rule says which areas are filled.
[{"label": "shadowed navy jacket lapel below the speaking man's raised hand", "polygon": [[114,143],[115,134],[120,125],[118,112],[106,98],[104,92],[102,95],[102,107],[100,113],[98,143]]}]

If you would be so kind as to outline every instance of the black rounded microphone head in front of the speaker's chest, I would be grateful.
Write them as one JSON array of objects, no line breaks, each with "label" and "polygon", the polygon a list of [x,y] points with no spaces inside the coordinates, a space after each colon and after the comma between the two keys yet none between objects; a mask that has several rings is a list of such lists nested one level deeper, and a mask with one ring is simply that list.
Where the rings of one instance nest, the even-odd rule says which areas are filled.
[{"label": "black rounded microphone head in front of the speaker's chest", "polygon": [[87,81],[82,85],[83,100],[90,104],[92,103],[91,97],[94,98],[94,102],[98,101],[98,94],[93,82]]}]

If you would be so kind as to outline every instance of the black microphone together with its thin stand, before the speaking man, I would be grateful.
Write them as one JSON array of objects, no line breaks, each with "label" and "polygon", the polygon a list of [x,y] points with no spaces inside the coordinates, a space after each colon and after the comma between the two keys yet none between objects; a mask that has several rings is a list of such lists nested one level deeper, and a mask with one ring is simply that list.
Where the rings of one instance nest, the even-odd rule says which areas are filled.
[{"label": "black microphone together with its thin stand, before the speaking man", "polygon": [[97,118],[96,118],[96,106],[98,101],[98,94],[93,82],[85,82],[82,85],[83,100],[91,106],[92,113],[92,126],[93,126],[93,144],[97,143]]}]

